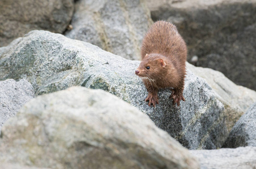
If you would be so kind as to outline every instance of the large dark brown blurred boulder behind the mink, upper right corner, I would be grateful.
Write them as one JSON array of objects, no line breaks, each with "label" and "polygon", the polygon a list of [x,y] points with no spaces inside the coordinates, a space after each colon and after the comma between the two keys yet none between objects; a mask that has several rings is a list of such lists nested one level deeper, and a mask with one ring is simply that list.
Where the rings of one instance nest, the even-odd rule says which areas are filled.
[{"label": "large dark brown blurred boulder behind the mink, upper right corner", "polygon": [[147,0],[153,20],[174,23],[189,48],[188,60],[219,70],[256,90],[256,0]]}]

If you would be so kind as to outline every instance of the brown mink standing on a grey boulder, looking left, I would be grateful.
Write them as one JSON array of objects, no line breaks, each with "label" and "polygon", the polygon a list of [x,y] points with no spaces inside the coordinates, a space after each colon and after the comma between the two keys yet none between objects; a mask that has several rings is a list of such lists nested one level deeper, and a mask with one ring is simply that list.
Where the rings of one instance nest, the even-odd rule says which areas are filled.
[{"label": "brown mink standing on a grey boulder, looking left", "polygon": [[141,49],[142,62],[135,74],[143,79],[149,101],[155,107],[159,104],[157,92],[170,87],[173,105],[180,106],[186,74],[187,47],[175,25],[157,21],[146,33]]}]

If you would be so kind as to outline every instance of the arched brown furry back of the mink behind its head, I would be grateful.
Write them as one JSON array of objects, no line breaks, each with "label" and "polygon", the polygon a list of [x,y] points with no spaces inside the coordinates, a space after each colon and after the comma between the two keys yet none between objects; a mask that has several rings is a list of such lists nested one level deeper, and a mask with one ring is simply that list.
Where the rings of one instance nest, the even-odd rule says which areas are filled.
[{"label": "arched brown furry back of the mink behind its head", "polygon": [[161,54],[174,61],[174,64],[183,65],[187,55],[186,43],[175,25],[157,21],[148,30],[142,42],[142,59],[146,54]]}]

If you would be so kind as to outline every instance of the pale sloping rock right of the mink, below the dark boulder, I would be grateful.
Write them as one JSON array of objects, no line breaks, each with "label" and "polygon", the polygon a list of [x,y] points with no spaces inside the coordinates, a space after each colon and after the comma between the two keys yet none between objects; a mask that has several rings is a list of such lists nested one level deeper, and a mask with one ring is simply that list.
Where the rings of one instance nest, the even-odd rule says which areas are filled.
[{"label": "pale sloping rock right of the mink, below the dark boulder", "polygon": [[217,98],[225,107],[224,114],[227,117],[228,131],[231,131],[241,115],[256,102],[256,92],[246,87],[237,86],[223,73],[216,70],[195,67],[189,63],[186,66],[193,73],[204,78],[217,93]]}]

